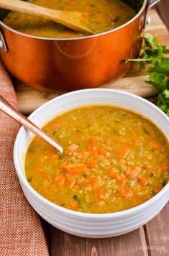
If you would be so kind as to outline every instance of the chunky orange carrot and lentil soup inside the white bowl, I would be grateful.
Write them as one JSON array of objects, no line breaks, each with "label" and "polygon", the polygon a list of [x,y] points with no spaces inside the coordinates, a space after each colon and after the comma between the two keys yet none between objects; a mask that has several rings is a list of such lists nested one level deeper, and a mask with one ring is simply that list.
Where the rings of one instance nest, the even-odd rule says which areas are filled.
[{"label": "chunky orange carrot and lentil soup inside the white bowl", "polygon": [[150,120],[113,106],[85,106],[44,127],[64,154],[34,137],[26,152],[29,184],[54,204],[92,214],[148,201],[169,180],[169,147]]}]

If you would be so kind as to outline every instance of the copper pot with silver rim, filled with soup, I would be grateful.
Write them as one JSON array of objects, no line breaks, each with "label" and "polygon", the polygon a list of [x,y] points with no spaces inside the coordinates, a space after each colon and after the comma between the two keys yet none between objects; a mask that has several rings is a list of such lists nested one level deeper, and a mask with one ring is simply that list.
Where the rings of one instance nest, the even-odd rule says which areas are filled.
[{"label": "copper pot with silver rim, filled with soup", "polygon": [[0,55],[20,81],[43,90],[95,88],[127,73],[137,58],[147,11],[159,0],[32,0],[51,9],[87,12],[96,35],[0,9]]}]

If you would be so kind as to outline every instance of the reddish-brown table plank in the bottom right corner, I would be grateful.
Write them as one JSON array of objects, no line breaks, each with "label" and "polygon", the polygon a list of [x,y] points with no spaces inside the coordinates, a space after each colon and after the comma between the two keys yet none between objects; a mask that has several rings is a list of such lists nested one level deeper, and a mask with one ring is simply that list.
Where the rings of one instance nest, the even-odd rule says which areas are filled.
[{"label": "reddish-brown table plank in the bottom right corner", "polygon": [[169,255],[169,203],[145,225],[145,235],[150,256]]}]

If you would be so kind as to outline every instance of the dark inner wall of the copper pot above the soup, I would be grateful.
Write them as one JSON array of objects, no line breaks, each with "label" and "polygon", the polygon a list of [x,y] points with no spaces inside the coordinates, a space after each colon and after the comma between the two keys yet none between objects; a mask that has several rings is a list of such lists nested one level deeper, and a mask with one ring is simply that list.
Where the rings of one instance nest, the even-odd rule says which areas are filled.
[{"label": "dark inner wall of the copper pot above the soup", "polygon": [[[22,1],[29,1],[29,0],[22,0]],[[122,0],[122,1],[125,1],[127,4],[132,6],[132,8],[135,9],[136,12],[139,12],[145,0]],[[9,12],[11,11],[0,8],[0,20],[3,21],[3,19],[9,14]]]}]

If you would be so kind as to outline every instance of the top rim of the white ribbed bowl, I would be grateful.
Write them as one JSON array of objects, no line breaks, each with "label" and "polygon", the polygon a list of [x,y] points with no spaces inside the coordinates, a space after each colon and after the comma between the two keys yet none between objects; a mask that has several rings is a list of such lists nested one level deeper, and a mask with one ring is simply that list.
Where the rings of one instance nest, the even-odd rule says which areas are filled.
[{"label": "top rim of the white ribbed bowl", "polygon": [[[54,99],[52,99],[50,101],[47,101],[45,104],[42,104],[42,106],[39,106],[39,108],[37,108],[35,111],[32,112],[32,114],[30,114],[28,116],[28,119],[32,120],[32,118],[34,116],[36,116],[39,113],[39,111],[43,111],[43,109],[45,109],[47,106],[52,104],[54,101],[60,100],[67,96],[72,96],[74,94],[83,93],[83,92],[91,92],[91,91],[92,92],[97,92],[97,91],[105,92],[106,91],[106,92],[111,92],[111,93],[112,92],[119,93],[121,95],[130,96],[134,99],[137,99],[137,101],[142,101],[145,104],[148,104],[149,106],[153,107],[153,109],[155,109],[155,111],[158,111],[158,113],[160,115],[162,115],[169,124],[169,117],[161,109],[159,109],[158,106],[155,106],[155,104],[151,103],[150,101],[148,101],[140,96],[137,96],[133,93],[128,93],[126,91],[120,91],[120,90],[116,90],[116,89],[107,89],[107,88],[91,88],[91,89],[83,89],[83,90],[78,90],[78,91],[72,91],[69,93],[64,93],[60,96],[55,97]],[[56,209],[57,211],[64,212],[64,214],[68,214],[69,216],[77,216],[77,217],[81,217],[81,218],[84,217],[87,219],[112,219],[112,218],[116,218],[116,217],[128,216],[130,214],[136,214],[137,211],[143,210],[147,206],[150,206],[151,204],[155,203],[155,201],[158,201],[158,199],[161,196],[165,195],[165,193],[169,192],[169,181],[168,181],[168,183],[161,189],[161,191],[156,193],[155,196],[150,198],[148,201],[145,201],[143,204],[139,204],[138,206],[132,207],[131,209],[127,209],[124,211],[117,211],[117,212],[105,213],[105,214],[84,213],[84,212],[80,212],[80,211],[73,211],[73,210],[64,208],[62,206],[58,206],[57,204],[52,203],[51,201],[49,201],[48,199],[44,198],[39,193],[37,193],[37,191],[35,191],[34,188],[32,188],[32,186],[29,185],[24,173],[22,173],[21,166],[19,165],[19,160],[18,160],[18,156],[17,156],[17,153],[18,153],[17,148],[19,147],[19,141],[21,140],[21,134],[25,131],[26,131],[26,129],[24,127],[21,127],[19,129],[19,132],[16,136],[16,140],[14,142],[14,151],[13,151],[14,165],[15,165],[16,173],[19,177],[19,180],[21,179],[21,183],[24,184],[25,188],[30,193],[32,193],[35,197],[37,197],[39,199],[39,201],[41,201],[43,204],[51,206],[52,208]]]}]

